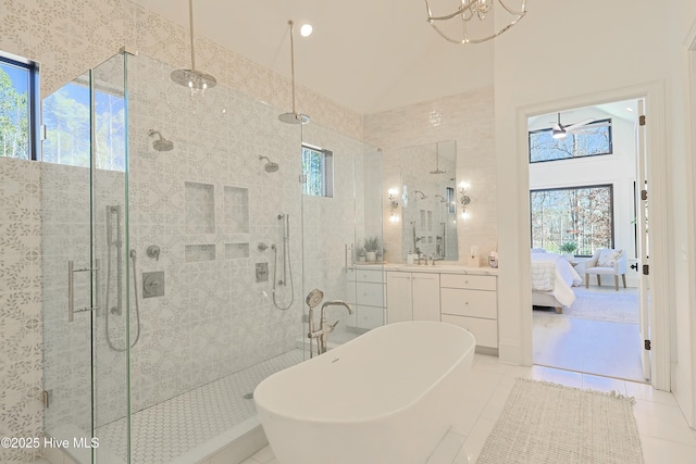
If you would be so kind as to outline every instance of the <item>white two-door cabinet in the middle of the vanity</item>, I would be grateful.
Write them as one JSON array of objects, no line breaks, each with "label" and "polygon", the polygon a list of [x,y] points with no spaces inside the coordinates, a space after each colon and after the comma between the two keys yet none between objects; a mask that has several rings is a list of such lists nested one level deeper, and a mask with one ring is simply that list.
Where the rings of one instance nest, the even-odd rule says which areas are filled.
[{"label": "white two-door cabinet in the middle of the vanity", "polygon": [[439,274],[387,272],[387,323],[439,321]]}]

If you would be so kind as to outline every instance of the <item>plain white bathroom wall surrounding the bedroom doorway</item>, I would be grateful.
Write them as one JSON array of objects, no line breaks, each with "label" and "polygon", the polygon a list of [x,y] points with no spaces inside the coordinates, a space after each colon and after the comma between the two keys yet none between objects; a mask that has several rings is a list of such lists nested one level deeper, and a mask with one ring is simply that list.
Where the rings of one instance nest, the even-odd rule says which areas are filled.
[{"label": "plain white bathroom wall surrounding the bedroom doorway", "polygon": [[[507,195],[523,195],[527,189],[526,160],[522,152],[527,112],[537,111],[539,106],[550,110],[554,101],[564,108],[580,102],[593,104],[600,95],[632,86],[652,89],[648,124],[657,127],[651,129],[649,143],[654,155],[664,160],[661,166],[666,170],[658,168],[654,174],[667,186],[662,200],[670,206],[664,210],[671,210],[656,212],[661,228],[655,230],[655,236],[660,237],[658,244],[668,250],[666,254],[652,255],[660,284],[655,291],[660,297],[664,294],[667,300],[667,305],[657,312],[659,316],[669,308],[675,308],[671,316],[678,329],[671,336],[678,339],[681,358],[673,368],[672,389],[691,424],[694,424],[695,366],[689,350],[689,327],[694,302],[684,291],[675,293],[674,287],[664,281],[673,281],[674,275],[688,272],[682,263],[676,263],[674,248],[684,247],[689,259],[694,252],[686,242],[693,229],[687,229],[681,220],[687,204],[683,195],[686,180],[679,175],[686,156],[684,130],[672,125],[685,115],[681,81],[685,70],[680,53],[684,52],[683,42],[695,14],[696,4],[686,0],[662,9],[655,9],[648,2],[591,0],[573,8],[572,12],[562,2],[538,0],[519,25],[497,39],[495,57],[498,184],[507,186]],[[662,97],[663,108],[660,106]],[[664,124],[666,118],[671,124]],[[499,195],[506,192],[501,189]],[[676,198],[680,199],[674,201]],[[504,362],[529,364],[531,350],[523,349],[531,347],[531,322],[523,317],[523,311],[531,304],[525,284],[529,206],[524,202],[504,201],[498,201],[498,205],[500,358]],[[668,246],[668,242],[674,244]],[[664,321],[661,325],[666,325]],[[660,328],[667,330],[668,327]],[[663,353],[654,352],[654,356]]]}]

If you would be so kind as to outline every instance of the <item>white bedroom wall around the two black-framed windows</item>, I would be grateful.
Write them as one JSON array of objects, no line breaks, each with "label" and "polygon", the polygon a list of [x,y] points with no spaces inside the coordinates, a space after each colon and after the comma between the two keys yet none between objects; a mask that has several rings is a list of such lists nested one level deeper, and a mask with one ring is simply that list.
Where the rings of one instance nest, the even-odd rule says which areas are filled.
[{"label": "white bedroom wall around the two black-framed windows", "polygon": [[[611,114],[595,108],[575,111],[570,120],[576,122],[587,117],[612,120],[612,153],[530,164],[530,189],[612,185],[614,248],[626,250],[627,264],[631,265],[636,263],[633,224],[635,203],[633,188],[636,176],[634,123],[612,117]],[[536,123],[530,126],[530,130],[548,127],[548,121],[537,118]],[[629,286],[637,287],[637,273],[629,268],[626,280]],[[613,283],[611,279],[605,279],[602,285],[611,287]]]}]

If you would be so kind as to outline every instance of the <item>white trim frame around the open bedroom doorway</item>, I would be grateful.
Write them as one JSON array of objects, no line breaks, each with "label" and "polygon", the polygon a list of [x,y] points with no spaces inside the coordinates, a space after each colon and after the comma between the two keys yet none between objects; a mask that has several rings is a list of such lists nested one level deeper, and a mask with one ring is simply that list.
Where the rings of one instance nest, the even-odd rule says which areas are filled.
[{"label": "white trim frame around the open bedroom doorway", "polygon": [[[593,106],[608,101],[645,100],[646,105],[646,152],[648,156],[647,176],[650,179],[650,274],[654,288],[650,289],[650,333],[651,333],[651,385],[659,389],[670,391],[670,349],[669,349],[669,296],[672,279],[670,279],[669,261],[669,224],[668,224],[668,183],[667,183],[667,150],[664,140],[664,84],[652,81],[633,87],[607,90],[602,92],[572,97],[563,100],[554,100],[534,105],[519,108],[517,110],[517,151],[520,160],[518,170],[518,211],[521,221],[529,222],[530,204],[530,168],[522,156],[527,151],[527,120],[530,116],[550,112]],[[524,220],[522,220],[524,218]],[[524,233],[521,230],[520,233]],[[529,231],[527,231],[529,234]],[[531,280],[529,269],[529,240],[527,246],[518,248],[518,262],[521,264],[519,277],[521,281]],[[532,300],[530,286],[522,286],[526,293],[522,301]],[[655,311],[658,309],[658,311]],[[533,362],[533,324],[532,311],[522,311],[520,324],[520,340],[525,364]]]}]

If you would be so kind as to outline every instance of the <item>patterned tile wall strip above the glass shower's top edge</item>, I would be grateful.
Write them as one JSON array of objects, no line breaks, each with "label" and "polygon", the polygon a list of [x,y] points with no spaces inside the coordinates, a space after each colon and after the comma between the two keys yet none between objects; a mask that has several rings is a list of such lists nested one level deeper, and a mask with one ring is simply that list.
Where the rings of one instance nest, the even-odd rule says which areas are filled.
[{"label": "patterned tile wall strip above the glass shower's top edge", "polygon": [[[290,83],[209,40],[196,37],[197,68],[217,84],[288,111]],[[41,92],[49,95],[97,66],[122,47],[189,67],[188,29],[130,0],[0,0],[0,50],[41,64]],[[297,87],[298,110],[360,140],[362,116],[310,89]]]}]

